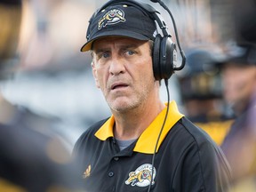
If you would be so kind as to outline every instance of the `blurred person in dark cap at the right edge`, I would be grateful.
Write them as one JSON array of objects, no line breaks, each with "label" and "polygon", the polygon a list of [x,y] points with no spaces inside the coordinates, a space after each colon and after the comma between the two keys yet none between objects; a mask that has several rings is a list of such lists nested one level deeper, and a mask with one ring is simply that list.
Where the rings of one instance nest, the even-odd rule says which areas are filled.
[{"label": "blurred person in dark cap at the right edge", "polygon": [[220,67],[224,98],[236,121],[221,148],[236,182],[256,175],[256,44],[237,44],[229,54]]}]

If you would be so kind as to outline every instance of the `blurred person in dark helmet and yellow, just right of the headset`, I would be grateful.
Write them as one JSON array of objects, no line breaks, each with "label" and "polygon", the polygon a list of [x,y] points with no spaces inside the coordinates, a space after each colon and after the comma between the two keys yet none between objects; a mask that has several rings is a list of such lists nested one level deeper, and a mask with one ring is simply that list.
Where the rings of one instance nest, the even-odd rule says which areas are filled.
[{"label": "blurred person in dark helmet and yellow, just right of the headset", "polygon": [[188,118],[204,129],[218,145],[233,122],[224,113],[221,98],[220,52],[205,47],[190,48],[184,73],[180,74],[180,93]]}]

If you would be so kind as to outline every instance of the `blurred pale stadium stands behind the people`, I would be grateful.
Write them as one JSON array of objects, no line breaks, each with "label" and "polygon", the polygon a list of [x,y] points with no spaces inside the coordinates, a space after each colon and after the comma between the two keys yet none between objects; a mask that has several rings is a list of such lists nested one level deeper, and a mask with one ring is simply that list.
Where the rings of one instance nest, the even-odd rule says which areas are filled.
[{"label": "blurred pale stadium stands behind the people", "polygon": [[[4,39],[4,28],[0,31],[1,39],[10,41],[9,49],[17,45],[15,56],[4,61],[14,66],[15,73],[5,68],[4,75],[11,77],[0,81],[0,106],[4,108],[1,121],[10,124],[19,122],[36,127],[40,132],[53,132],[71,150],[90,124],[110,115],[92,79],[91,57],[89,53],[79,51],[85,42],[92,12],[105,2],[24,0],[20,20],[1,14],[1,26],[4,22],[20,23],[17,39]],[[149,0],[145,2],[153,4]],[[239,36],[236,31],[241,23],[234,21],[234,4],[238,1],[165,0],[164,3],[176,20],[180,44],[185,53],[202,48],[219,60],[228,44]],[[176,42],[170,16],[158,4],[153,6],[161,12],[172,33],[172,40]],[[240,7],[243,6],[242,3]],[[238,12],[242,11],[239,9]],[[8,28],[5,33],[8,33]],[[0,46],[0,49],[1,54],[8,54],[6,47]],[[177,100],[185,114],[188,110],[180,91],[180,77],[186,76],[186,73],[190,72],[184,69],[170,79],[171,99]],[[221,95],[220,79],[218,81],[214,85],[215,91]],[[167,98],[164,86],[161,97],[163,100]],[[221,100],[217,108],[228,113]]]}]

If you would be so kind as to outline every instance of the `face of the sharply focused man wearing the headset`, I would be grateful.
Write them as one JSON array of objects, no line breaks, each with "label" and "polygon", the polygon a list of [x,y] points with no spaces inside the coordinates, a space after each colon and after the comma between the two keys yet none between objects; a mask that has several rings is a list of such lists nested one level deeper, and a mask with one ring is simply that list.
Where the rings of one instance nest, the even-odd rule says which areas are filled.
[{"label": "face of the sharply focused man wearing the headset", "polygon": [[158,86],[148,41],[120,36],[95,41],[92,72],[114,111],[126,112],[156,97]]}]

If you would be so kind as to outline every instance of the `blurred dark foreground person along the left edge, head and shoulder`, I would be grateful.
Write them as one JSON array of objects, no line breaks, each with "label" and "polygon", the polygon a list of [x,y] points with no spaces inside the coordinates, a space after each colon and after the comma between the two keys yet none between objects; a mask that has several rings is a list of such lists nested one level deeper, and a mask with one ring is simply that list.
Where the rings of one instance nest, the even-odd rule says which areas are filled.
[{"label": "blurred dark foreground person along the left edge, head and shoulder", "polygon": [[[0,1],[0,78],[10,78],[18,63],[21,0]],[[0,96],[2,101],[2,97]],[[1,106],[0,119],[8,119]],[[7,116],[7,117],[6,117]],[[45,127],[46,129],[46,127]],[[0,191],[82,191],[76,165],[57,137],[36,132],[19,122],[0,123]],[[78,168],[77,168],[78,169]]]}]

